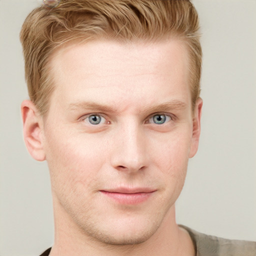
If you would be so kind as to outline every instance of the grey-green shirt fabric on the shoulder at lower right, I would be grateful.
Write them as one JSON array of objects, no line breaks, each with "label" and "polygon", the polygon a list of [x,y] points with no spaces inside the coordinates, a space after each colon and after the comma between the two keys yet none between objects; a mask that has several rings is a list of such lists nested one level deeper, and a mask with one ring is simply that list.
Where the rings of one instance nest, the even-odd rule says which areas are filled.
[{"label": "grey-green shirt fabric on the shoulder at lower right", "polygon": [[196,256],[256,256],[256,242],[231,240],[197,232],[187,226],[187,230],[195,245]]}]

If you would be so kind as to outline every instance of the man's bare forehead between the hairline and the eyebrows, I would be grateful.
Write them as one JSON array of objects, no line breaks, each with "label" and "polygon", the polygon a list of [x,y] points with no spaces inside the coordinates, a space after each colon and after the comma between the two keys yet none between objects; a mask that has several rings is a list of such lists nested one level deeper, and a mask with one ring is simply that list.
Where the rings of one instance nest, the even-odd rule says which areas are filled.
[{"label": "man's bare forehead between the hairline and the eyebrows", "polygon": [[124,104],[125,100],[131,104],[146,98],[150,104],[167,94],[189,101],[187,55],[185,44],[178,39],[69,44],[51,59],[53,94],[65,101],[96,99],[104,104]]}]

